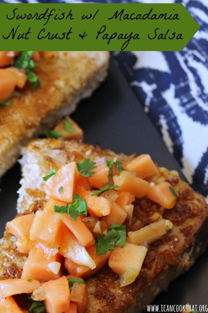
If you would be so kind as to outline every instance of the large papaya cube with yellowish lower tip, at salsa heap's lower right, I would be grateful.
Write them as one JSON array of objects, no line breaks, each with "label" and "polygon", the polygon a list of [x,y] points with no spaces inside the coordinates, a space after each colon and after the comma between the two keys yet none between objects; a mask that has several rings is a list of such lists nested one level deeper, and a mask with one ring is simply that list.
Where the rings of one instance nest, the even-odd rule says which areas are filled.
[{"label": "large papaya cube with yellowish lower tip, at salsa heap's lower right", "polygon": [[146,247],[129,243],[123,248],[115,247],[111,250],[108,265],[116,274],[126,276],[128,283],[122,281],[123,286],[132,283],[139,275],[146,252]]}]

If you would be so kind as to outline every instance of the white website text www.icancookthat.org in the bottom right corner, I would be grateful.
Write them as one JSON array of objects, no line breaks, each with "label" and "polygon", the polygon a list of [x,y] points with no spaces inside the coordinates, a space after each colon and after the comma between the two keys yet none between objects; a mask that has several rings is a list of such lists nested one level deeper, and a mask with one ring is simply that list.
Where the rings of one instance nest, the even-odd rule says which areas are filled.
[{"label": "white website text www.icancookthat.org in the bottom right corner", "polygon": [[173,304],[173,305],[147,305],[147,312],[208,312],[208,305],[190,305],[190,304]]}]

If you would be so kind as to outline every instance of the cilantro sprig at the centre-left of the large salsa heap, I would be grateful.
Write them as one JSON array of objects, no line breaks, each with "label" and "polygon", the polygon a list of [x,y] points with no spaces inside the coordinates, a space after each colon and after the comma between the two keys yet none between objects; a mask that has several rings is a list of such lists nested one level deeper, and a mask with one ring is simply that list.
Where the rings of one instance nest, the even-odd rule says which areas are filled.
[{"label": "cilantro sprig at the centre-left of the large salsa heap", "polygon": [[77,220],[79,214],[87,215],[87,202],[84,199],[82,199],[82,197],[79,194],[74,195],[73,199],[74,201],[70,205],[68,205],[68,203],[66,206],[54,205],[54,212],[68,213],[69,216],[75,221]]}]

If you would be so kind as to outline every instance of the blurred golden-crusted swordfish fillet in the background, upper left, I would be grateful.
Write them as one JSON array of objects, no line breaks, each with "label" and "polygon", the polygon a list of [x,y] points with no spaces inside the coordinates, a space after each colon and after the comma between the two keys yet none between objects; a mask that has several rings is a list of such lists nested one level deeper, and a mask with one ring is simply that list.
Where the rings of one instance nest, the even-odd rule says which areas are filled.
[{"label": "blurred golden-crusted swordfish fillet in the background, upper left", "polygon": [[106,51],[43,51],[34,72],[41,85],[27,83],[11,105],[0,105],[0,177],[16,162],[21,147],[92,95],[106,78]]}]

